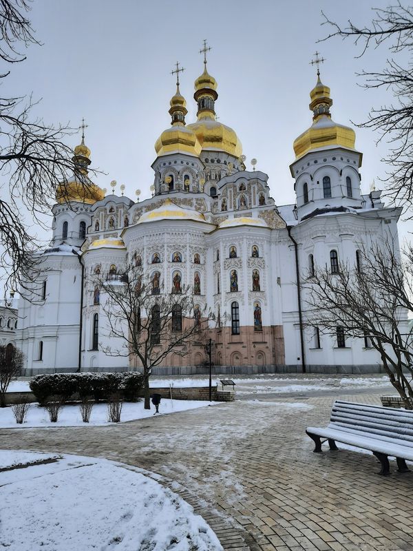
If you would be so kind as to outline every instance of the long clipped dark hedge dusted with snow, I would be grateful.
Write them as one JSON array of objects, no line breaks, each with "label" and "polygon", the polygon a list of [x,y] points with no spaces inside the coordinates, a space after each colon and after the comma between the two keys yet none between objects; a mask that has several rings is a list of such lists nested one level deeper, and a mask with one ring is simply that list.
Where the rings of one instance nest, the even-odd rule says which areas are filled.
[{"label": "long clipped dark hedge dusted with snow", "polygon": [[53,373],[36,375],[30,382],[30,390],[40,404],[45,405],[51,396],[59,396],[61,402],[93,396],[96,402],[107,400],[120,393],[127,400],[136,400],[142,389],[140,373]]}]

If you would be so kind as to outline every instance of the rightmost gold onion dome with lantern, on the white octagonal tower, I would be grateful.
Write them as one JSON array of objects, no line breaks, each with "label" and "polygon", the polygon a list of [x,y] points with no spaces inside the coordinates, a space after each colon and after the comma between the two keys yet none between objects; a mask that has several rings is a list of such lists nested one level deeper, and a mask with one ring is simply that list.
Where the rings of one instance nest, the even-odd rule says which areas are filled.
[{"label": "rightmost gold onion dome with lantern, on the white octagonal tower", "polygon": [[330,88],[324,85],[319,73],[317,73],[317,84],[310,92],[310,110],[313,111],[313,125],[310,126],[294,141],[294,152],[299,158],[313,149],[324,147],[346,147],[354,149],[356,134],[348,126],[340,125],[332,121],[330,107]]}]

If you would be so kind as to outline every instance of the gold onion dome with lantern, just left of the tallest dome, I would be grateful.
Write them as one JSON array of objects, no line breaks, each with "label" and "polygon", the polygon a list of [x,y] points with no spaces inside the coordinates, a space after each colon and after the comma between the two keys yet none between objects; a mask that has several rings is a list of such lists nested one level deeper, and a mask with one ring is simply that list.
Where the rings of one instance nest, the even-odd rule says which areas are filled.
[{"label": "gold onion dome with lantern, just left of the tallest dome", "polygon": [[179,85],[176,86],[176,94],[169,102],[171,107],[171,127],[162,132],[155,143],[155,151],[158,157],[171,153],[184,153],[198,157],[201,152],[201,145],[193,130],[185,126],[185,115],[187,114],[187,102],[180,93]]}]

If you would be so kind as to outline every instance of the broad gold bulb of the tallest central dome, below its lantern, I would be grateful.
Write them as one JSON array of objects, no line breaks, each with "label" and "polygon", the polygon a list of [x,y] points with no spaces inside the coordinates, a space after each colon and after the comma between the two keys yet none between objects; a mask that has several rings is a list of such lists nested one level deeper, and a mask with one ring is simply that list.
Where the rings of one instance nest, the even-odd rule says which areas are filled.
[{"label": "broad gold bulb of the tallest central dome, below its lantern", "polygon": [[242,155],[242,143],[235,131],[218,121],[215,116],[203,116],[196,123],[187,125],[187,128],[195,132],[202,149],[224,151],[240,157]]}]

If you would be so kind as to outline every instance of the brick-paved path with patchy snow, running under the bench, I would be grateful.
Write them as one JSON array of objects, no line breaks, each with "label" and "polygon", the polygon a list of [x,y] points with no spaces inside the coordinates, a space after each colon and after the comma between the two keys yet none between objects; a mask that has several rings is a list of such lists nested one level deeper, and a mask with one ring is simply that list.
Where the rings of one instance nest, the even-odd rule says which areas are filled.
[{"label": "brick-paved path with patchy snow, running under the bench", "polygon": [[[379,403],[373,393],[341,397]],[[327,424],[333,400],[244,400],[120,426],[1,430],[1,447],[158,473],[226,550],[413,551],[412,473],[391,461],[392,475],[380,477],[372,455],[347,449],[312,453],[305,428]]]}]

